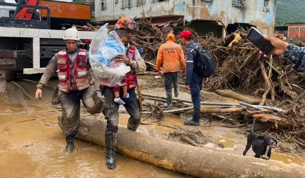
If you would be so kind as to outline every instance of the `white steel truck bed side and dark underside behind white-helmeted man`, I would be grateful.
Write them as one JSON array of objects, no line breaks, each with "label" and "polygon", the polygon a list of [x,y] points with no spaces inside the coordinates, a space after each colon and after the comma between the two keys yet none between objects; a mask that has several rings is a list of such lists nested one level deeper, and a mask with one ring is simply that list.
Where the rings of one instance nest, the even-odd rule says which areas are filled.
[{"label": "white steel truck bed side and dark underside behind white-helmeted man", "polygon": [[[2,54],[3,50],[4,53],[5,50],[11,50],[10,53],[12,55],[14,54],[14,56],[2,56],[2,60],[4,60],[2,63],[10,64],[11,60],[7,62],[6,59],[8,58],[5,57],[11,57],[12,59],[16,58],[17,55],[17,60],[12,60],[15,61],[12,65],[19,66],[19,70],[23,70],[23,74],[43,73],[45,71],[45,67],[41,67],[41,65],[45,66],[48,64],[48,61],[45,61],[47,62],[45,65],[42,63],[44,60],[46,60],[45,55],[48,55],[51,58],[54,54],[50,53],[50,51],[52,52],[64,48],[64,43],[62,43],[64,32],[65,31],[63,30],[0,27],[0,40],[2,40],[2,45],[4,45],[0,45],[0,54],[1,50]],[[92,39],[94,34],[95,32],[78,32],[81,39]],[[23,51],[20,51],[20,49],[7,49],[13,44],[13,42],[21,42],[22,44],[25,42],[24,45],[27,49],[21,49]],[[30,57],[30,60],[19,59],[19,55],[26,55],[27,59]],[[41,58],[43,59],[41,60]],[[20,68],[21,66],[24,67]]]}]

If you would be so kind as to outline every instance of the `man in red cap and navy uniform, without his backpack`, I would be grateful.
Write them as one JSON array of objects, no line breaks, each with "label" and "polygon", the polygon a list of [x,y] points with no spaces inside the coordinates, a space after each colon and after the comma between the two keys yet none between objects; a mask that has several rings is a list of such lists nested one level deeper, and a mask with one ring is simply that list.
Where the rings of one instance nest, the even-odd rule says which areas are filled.
[{"label": "man in red cap and navy uniform, without his backpack", "polygon": [[[196,72],[196,66],[198,65],[198,50],[202,47],[193,42],[194,38],[190,31],[182,31],[177,37],[181,38],[181,42],[186,46],[185,49],[185,62],[186,62],[186,78],[185,86],[186,90],[191,90],[192,102],[194,105],[193,118],[190,121],[184,122],[184,125],[199,126],[199,114],[200,114],[200,90],[202,89],[203,77],[200,77]],[[206,82],[206,79],[205,79]]]}]

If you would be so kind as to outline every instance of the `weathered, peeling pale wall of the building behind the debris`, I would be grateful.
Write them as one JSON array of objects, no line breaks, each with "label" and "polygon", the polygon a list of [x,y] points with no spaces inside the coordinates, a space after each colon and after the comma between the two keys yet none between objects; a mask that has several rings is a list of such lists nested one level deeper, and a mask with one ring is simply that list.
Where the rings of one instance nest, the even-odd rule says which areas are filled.
[{"label": "weathered, peeling pale wall of the building behind the debris", "polygon": [[[269,0],[268,9],[264,7],[265,0],[241,0],[243,7],[234,7],[232,1],[236,0],[167,0],[165,2],[153,2],[146,0],[144,5],[136,5],[137,0],[132,0],[133,6],[122,7],[122,0],[115,3],[107,1],[107,10],[101,11],[101,0],[95,1],[95,19],[98,21],[117,20],[119,16],[141,16],[145,12],[147,17],[156,16],[184,16],[184,2],[187,7],[185,20],[222,20],[225,25],[233,23],[249,23],[257,26],[259,31],[273,35],[276,0]],[[240,0],[237,0],[240,1]],[[266,29],[268,28],[268,29]]]}]

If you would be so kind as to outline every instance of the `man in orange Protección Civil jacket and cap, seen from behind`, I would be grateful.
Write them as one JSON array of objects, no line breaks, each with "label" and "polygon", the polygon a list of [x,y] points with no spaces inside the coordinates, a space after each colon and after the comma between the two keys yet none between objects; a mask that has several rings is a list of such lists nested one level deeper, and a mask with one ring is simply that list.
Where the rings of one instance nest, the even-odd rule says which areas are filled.
[{"label": "man in orange Protecci\u00f3n Civil jacket and cap, seen from behind", "polygon": [[163,64],[162,72],[164,73],[164,86],[167,97],[167,103],[164,103],[164,106],[171,107],[173,84],[175,97],[178,97],[178,74],[181,67],[183,68],[183,73],[185,73],[186,65],[181,46],[174,42],[175,35],[170,33],[166,39],[167,42],[162,44],[158,50],[156,69],[160,70],[161,64]]}]

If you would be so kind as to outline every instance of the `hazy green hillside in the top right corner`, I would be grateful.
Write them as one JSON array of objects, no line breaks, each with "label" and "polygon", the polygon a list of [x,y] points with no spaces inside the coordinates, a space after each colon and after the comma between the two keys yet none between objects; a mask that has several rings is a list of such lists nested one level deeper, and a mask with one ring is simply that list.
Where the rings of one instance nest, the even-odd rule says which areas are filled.
[{"label": "hazy green hillside in the top right corner", "polygon": [[277,0],[275,25],[305,23],[305,0]]}]

